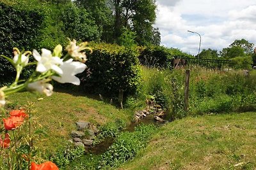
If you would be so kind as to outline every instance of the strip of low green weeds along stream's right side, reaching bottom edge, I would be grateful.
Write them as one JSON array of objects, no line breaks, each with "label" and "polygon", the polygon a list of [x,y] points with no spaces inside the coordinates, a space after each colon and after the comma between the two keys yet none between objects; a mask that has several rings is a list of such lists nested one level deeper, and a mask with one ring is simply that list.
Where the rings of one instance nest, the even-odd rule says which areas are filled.
[{"label": "strip of low green weeds along stream's right side, reaching bottom edge", "polygon": [[[154,125],[140,125],[134,132],[122,132],[116,136],[115,142],[102,155],[84,155],[70,164],[75,169],[111,169],[132,160],[138,152],[147,146],[152,134],[156,132]],[[67,167],[68,168],[68,167]]]}]

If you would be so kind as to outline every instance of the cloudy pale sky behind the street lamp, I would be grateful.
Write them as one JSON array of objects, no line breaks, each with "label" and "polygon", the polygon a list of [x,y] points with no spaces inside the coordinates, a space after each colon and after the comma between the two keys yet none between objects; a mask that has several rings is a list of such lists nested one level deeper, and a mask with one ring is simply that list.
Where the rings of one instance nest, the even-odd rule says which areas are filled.
[{"label": "cloudy pale sky behind the street lamp", "polygon": [[[255,0],[156,0],[154,27],[161,45],[196,55],[201,48],[221,51],[236,39],[256,46]],[[198,34],[188,32],[198,32]]]}]

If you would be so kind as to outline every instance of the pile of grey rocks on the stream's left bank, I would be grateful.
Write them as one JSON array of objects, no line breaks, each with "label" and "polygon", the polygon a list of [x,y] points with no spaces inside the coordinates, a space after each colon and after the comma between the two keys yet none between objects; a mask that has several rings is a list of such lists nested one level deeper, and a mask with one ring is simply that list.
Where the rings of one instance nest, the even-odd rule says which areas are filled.
[{"label": "pile of grey rocks on the stream's left bank", "polygon": [[99,129],[90,122],[78,121],[76,122],[76,131],[71,132],[72,142],[75,146],[90,147],[93,144],[95,135],[99,132]]}]

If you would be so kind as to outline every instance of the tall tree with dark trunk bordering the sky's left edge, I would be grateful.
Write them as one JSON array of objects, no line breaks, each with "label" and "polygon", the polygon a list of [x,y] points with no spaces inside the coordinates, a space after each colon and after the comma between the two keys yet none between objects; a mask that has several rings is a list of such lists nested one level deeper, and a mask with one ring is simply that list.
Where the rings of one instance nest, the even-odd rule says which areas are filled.
[{"label": "tall tree with dark trunk bordering the sky's left edge", "polygon": [[115,38],[122,34],[122,27],[136,32],[139,45],[159,42],[159,31],[152,26],[156,20],[155,0],[112,0],[115,14]]}]

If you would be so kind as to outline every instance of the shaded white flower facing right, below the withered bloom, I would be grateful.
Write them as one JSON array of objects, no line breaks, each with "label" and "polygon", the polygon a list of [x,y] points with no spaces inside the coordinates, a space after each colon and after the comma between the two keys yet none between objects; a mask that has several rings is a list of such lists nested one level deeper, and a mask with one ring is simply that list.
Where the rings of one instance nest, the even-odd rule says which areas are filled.
[{"label": "shaded white flower facing right, below the withered bloom", "polygon": [[63,74],[60,74],[60,76],[52,76],[52,79],[60,83],[72,83],[74,85],[80,85],[80,80],[75,75],[82,73],[86,67],[87,66],[82,62],[69,59],[63,62],[63,65],[60,66]]}]

